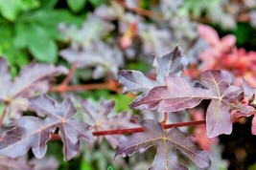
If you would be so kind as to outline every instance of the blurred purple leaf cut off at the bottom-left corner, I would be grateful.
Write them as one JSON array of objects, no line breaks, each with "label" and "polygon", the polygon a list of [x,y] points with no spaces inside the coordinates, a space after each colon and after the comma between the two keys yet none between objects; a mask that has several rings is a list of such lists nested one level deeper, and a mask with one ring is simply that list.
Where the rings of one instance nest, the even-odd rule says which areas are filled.
[{"label": "blurred purple leaf cut off at the bottom-left corner", "polygon": [[1,170],[35,170],[24,158],[11,159],[5,156],[0,156]]}]

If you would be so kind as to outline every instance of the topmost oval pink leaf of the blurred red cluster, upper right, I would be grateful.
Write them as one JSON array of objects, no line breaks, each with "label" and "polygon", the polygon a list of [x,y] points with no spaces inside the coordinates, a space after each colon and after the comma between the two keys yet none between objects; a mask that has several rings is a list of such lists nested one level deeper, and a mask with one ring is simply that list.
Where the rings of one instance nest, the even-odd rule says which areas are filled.
[{"label": "topmost oval pink leaf of the blurred red cluster, upper right", "polygon": [[216,32],[210,26],[199,24],[198,25],[198,33],[199,33],[200,37],[205,39],[212,46],[216,46],[220,42],[220,37],[218,35],[218,32]]}]

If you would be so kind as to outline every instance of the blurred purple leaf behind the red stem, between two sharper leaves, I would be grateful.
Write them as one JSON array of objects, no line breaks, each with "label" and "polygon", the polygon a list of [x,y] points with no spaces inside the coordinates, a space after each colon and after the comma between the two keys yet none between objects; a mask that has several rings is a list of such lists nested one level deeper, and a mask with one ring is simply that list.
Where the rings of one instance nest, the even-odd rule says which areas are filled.
[{"label": "blurred purple leaf behind the red stem, between two sharper leaves", "polygon": [[[89,116],[85,121],[91,126],[90,129],[94,132],[113,130],[113,129],[124,129],[135,127],[134,123],[131,123],[131,114],[128,112],[123,112],[115,114],[113,112],[115,102],[109,100],[102,100],[98,107],[95,107],[88,100],[81,102],[82,109],[85,114]],[[105,136],[104,138],[113,147],[119,144],[119,135]],[[102,141],[103,137],[98,137],[98,141]]]}]

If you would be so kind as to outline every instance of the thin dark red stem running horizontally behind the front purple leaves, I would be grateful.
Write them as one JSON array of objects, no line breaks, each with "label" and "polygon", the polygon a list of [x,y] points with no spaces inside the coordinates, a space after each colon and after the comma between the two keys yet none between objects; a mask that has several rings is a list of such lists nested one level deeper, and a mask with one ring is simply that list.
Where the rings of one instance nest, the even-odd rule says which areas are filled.
[{"label": "thin dark red stem running horizontally behind the front purple leaves", "polygon": [[[199,125],[199,124],[205,124],[205,120],[181,122],[181,123],[174,123],[174,124],[165,124],[165,125],[163,125],[163,128],[170,129],[173,127],[195,126],[195,125]],[[142,127],[99,131],[99,132],[93,132],[92,134],[93,134],[93,136],[109,136],[109,135],[132,134],[132,133],[140,133],[140,132],[144,132],[144,129]],[[59,137],[57,134],[54,134],[51,139],[58,140]]]}]

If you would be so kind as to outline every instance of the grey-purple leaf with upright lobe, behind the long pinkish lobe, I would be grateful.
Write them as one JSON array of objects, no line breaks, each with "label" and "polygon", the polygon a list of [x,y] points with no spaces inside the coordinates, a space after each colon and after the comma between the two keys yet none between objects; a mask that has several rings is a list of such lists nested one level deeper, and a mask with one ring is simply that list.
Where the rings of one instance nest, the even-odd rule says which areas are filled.
[{"label": "grey-purple leaf with upright lobe, behind the long pinkish lobe", "polygon": [[147,95],[153,87],[164,85],[164,77],[168,75],[180,75],[187,65],[187,59],[181,53],[179,47],[162,57],[155,56],[153,66],[156,70],[156,79],[152,80],[145,74],[133,70],[123,70],[118,73],[118,79],[124,85],[123,93],[143,92],[137,99]]}]

